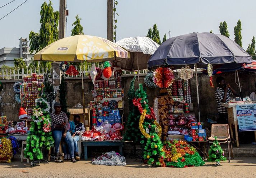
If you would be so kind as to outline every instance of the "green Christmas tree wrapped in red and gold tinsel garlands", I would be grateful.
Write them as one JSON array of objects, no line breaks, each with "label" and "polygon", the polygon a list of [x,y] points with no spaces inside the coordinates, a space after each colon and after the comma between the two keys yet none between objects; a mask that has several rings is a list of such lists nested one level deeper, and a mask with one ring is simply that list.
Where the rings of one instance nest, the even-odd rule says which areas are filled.
[{"label": "green Christmas tree wrapped in red and gold tinsel garlands", "polygon": [[[136,90],[133,103],[138,106],[140,112],[142,111],[139,122],[139,128],[143,134],[141,137],[141,144],[145,144],[144,140],[146,137],[143,158],[149,165],[160,166],[161,160],[165,157],[163,144],[160,140],[162,128],[155,121],[154,117],[148,118],[153,116],[153,109],[149,108],[147,94],[144,91],[142,84],[140,84],[139,89]],[[146,114],[148,116],[146,116]]]}]

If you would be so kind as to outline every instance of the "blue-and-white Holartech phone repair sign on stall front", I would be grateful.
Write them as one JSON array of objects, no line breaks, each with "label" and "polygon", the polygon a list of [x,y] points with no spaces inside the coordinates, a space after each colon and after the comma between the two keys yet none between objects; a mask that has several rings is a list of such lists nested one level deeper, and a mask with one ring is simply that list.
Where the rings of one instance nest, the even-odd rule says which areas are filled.
[{"label": "blue-and-white Holartech phone repair sign on stall front", "polygon": [[256,104],[237,105],[239,131],[256,131]]}]

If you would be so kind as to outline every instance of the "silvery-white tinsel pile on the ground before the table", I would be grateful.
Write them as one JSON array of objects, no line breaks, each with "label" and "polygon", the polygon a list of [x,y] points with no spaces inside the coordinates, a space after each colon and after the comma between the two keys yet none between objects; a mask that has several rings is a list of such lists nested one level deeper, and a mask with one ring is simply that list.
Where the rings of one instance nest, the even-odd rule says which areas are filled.
[{"label": "silvery-white tinsel pile on the ground before the table", "polygon": [[93,158],[92,164],[107,165],[107,166],[126,166],[126,160],[124,156],[121,156],[115,151],[103,153],[98,158]]}]

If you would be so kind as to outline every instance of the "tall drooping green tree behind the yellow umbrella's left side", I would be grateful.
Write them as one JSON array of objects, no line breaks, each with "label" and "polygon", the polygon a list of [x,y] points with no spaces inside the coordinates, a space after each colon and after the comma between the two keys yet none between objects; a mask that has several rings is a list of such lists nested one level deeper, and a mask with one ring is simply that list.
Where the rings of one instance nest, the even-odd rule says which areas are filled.
[{"label": "tall drooping green tree behind the yellow umbrella's left side", "polygon": [[[49,4],[44,2],[41,6],[40,11],[40,24],[39,33],[31,31],[29,33],[29,47],[30,52],[36,51],[36,53],[42,50],[47,45],[50,45],[52,42],[58,40],[59,31],[59,11],[53,11],[52,2],[49,1]],[[51,62],[43,61],[40,62],[40,67],[50,69]]]}]

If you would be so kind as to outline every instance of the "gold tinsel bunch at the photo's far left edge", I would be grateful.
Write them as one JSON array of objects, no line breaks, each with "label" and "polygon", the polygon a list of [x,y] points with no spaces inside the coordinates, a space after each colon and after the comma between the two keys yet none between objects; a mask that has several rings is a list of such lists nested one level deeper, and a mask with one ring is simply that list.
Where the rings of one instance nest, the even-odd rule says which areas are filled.
[{"label": "gold tinsel bunch at the photo's far left edge", "polygon": [[0,149],[0,158],[6,158],[7,163],[11,163],[11,158],[13,157],[13,146],[11,145],[11,140],[7,138],[1,139],[2,147]]}]

